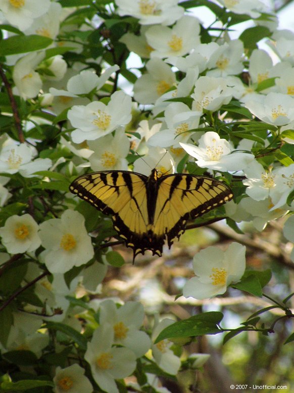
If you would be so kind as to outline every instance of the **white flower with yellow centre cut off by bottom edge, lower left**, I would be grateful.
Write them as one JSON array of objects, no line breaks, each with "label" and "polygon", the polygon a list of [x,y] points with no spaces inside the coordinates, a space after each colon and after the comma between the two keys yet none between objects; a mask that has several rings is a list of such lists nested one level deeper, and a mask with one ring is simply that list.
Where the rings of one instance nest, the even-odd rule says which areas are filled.
[{"label": "white flower with yellow centre cut off by bottom edge, lower left", "polygon": [[73,364],[65,369],[57,367],[53,382],[55,393],[92,393],[93,387],[86,376],[85,370],[78,364]]}]

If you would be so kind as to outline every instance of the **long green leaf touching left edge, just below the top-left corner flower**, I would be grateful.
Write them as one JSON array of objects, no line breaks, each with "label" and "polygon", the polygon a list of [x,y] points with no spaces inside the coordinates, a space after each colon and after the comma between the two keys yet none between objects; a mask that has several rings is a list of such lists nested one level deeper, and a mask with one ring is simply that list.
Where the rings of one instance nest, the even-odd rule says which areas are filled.
[{"label": "long green leaf touching left edge, just below the top-left corner flower", "polygon": [[0,56],[39,51],[52,43],[51,38],[42,35],[14,35],[0,41]]}]

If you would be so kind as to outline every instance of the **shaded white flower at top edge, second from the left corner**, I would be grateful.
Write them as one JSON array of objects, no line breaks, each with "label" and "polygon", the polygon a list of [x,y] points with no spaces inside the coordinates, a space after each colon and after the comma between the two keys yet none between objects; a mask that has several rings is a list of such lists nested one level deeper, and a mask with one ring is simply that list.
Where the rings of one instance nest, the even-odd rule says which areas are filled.
[{"label": "shaded white flower at top edge, second from the left corner", "polygon": [[38,34],[54,40],[59,33],[61,12],[62,7],[59,3],[50,3],[48,11],[42,16],[34,19],[33,23],[28,29],[26,29],[25,33]]}]

